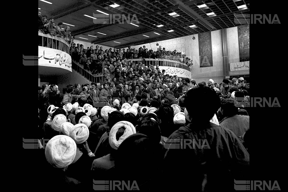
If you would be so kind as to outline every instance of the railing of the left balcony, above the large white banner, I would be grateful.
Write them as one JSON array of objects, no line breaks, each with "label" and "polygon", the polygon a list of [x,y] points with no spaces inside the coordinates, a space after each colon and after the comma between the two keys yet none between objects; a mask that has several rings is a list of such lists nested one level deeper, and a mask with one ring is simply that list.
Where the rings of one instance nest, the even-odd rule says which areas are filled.
[{"label": "railing of the left balcony, above the large white banner", "polygon": [[38,45],[42,47],[57,49],[68,54],[70,50],[70,45],[64,39],[40,32],[38,32]]}]

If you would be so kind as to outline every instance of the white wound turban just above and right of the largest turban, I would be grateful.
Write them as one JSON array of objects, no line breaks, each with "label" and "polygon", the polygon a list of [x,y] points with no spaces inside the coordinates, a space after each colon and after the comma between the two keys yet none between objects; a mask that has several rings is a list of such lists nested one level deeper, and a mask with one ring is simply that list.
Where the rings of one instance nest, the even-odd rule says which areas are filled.
[{"label": "white wound turban just above and right of the largest turban", "polygon": [[74,125],[70,131],[70,137],[77,143],[84,143],[89,137],[89,129],[83,123]]}]

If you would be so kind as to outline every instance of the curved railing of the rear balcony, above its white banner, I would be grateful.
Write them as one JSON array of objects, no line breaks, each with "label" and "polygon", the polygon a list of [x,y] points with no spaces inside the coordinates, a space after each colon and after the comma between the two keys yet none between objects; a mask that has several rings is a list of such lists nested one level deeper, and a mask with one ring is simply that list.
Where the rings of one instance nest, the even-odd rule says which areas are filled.
[{"label": "curved railing of the rear balcony, above its white banner", "polygon": [[[138,64],[140,61],[143,63],[143,59],[127,59],[127,61],[132,60],[132,62],[135,62],[135,64]],[[145,59],[145,66],[152,65],[152,66],[167,66],[167,67],[177,67],[180,69],[186,69],[190,71],[190,67],[188,67],[186,64],[181,63],[179,61],[170,60],[170,59]]]}]

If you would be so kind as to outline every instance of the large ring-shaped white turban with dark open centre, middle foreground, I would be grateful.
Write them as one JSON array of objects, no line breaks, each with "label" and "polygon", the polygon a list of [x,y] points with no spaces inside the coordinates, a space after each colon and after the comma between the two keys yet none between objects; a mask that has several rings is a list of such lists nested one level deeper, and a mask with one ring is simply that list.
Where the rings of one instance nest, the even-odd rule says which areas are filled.
[{"label": "large ring-shaped white turban with dark open centre, middle foreground", "polygon": [[[124,127],[125,131],[123,135],[119,138],[119,140],[116,139],[116,133],[120,128]],[[116,123],[109,133],[109,144],[113,149],[118,149],[120,144],[130,135],[133,135],[136,133],[135,127],[132,123],[128,121],[119,121]]]}]

